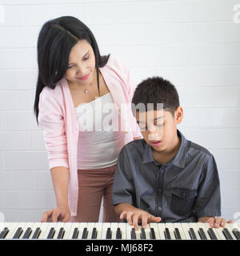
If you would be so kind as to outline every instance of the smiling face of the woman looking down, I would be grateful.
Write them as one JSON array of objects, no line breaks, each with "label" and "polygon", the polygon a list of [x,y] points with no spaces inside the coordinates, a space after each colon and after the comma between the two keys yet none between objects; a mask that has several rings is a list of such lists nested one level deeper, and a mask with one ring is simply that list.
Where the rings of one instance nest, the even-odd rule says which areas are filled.
[{"label": "smiling face of the woman looking down", "polygon": [[65,78],[70,84],[88,85],[95,78],[95,56],[90,43],[79,40],[70,50]]}]

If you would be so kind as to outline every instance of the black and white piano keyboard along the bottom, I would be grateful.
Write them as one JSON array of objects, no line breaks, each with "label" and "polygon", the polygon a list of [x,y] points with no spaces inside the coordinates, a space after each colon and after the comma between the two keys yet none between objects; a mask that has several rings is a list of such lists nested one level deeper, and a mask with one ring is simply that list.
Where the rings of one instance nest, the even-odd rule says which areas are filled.
[{"label": "black and white piano keyboard along the bottom", "polygon": [[149,223],[135,230],[123,222],[0,222],[3,239],[240,240],[240,223]]}]

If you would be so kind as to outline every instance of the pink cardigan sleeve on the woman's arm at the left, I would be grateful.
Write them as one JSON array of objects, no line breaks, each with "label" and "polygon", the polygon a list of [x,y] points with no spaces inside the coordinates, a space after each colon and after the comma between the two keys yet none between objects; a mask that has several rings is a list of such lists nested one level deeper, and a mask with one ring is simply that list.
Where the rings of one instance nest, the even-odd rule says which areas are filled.
[{"label": "pink cardigan sleeve on the woman's arm at the left", "polygon": [[[39,98],[38,125],[42,128],[48,153],[49,168],[65,166],[68,168],[66,130],[61,103],[54,97],[51,89],[45,87]],[[56,90],[56,88],[54,89]]]}]

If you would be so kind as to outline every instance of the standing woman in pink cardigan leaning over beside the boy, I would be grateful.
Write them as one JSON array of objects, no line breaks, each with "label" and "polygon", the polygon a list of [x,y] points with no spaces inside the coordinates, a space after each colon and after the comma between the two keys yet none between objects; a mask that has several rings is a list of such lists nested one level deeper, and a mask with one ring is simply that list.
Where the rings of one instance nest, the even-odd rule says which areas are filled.
[{"label": "standing woman in pink cardigan leaning over beside the boy", "polygon": [[[94,35],[77,18],[60,17],[42,26],[34,112],[56,197],[56,207],[42,222],[98,222],[102,197],[103,222],[118,222],[111,202],[118,153],[142,136],[130,108],[121,111],[133,93],[126,67],[110,54],[101,56]],[[102,111],[109,104],[115,106],[110,122],[118,121],[118,129],[96,129],[109,120]],[[90,112],[82,114],[84,108]]]}]

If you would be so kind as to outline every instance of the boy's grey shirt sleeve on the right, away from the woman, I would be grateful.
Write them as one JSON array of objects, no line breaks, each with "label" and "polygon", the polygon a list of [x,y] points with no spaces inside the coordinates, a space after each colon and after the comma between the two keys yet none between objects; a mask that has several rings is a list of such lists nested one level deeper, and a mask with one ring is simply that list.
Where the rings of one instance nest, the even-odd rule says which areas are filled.
[{"label": "boy's grey shirt sleeve on the right, away from the woman", "polygon": [[198,196],[194,204],[197,218],[221,216],[221,194],[218,168],[214,156],[206,158],[198,185]]}]

